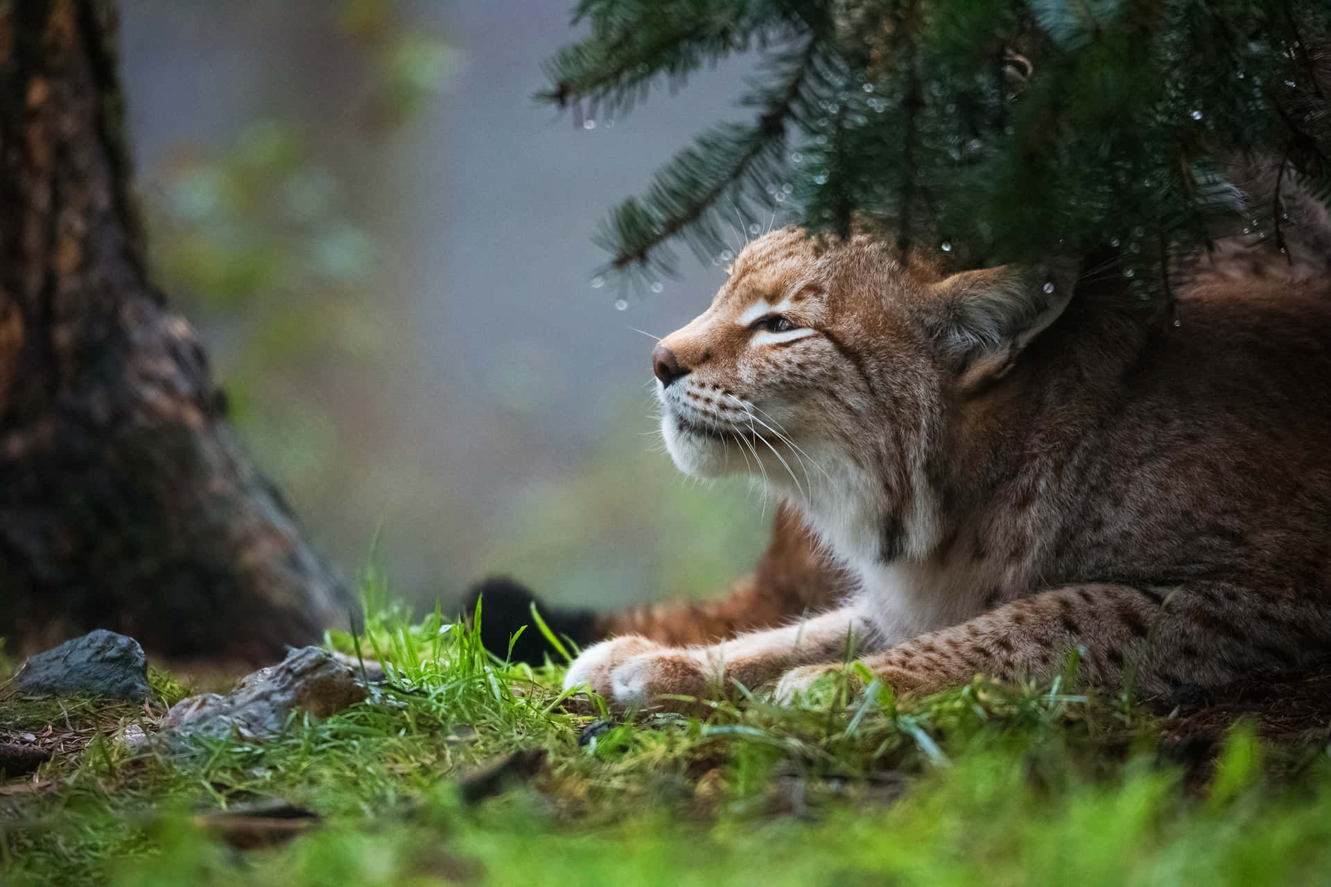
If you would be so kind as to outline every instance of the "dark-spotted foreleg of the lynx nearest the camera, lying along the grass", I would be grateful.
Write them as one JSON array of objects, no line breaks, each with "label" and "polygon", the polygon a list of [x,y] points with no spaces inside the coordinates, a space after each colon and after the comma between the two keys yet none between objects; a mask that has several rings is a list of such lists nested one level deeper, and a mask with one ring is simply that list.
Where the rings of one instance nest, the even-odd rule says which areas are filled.
[{"label": "dark-spotted foreleg of the lynx nearest the camera, lying along the grass", "polygon": [[[1071,585],[1006,604],[861,660],[884,682],[928,693],[986,674],[1053,678],[1081,646],[1079,674],[1106,688],[1169,693],[1185,684],[1222,686],[1324,660],[1324,605],[1270,597],[1225,582],[1178,586]],[[837,664],[799,668],[777,685],[789,702]]]}]

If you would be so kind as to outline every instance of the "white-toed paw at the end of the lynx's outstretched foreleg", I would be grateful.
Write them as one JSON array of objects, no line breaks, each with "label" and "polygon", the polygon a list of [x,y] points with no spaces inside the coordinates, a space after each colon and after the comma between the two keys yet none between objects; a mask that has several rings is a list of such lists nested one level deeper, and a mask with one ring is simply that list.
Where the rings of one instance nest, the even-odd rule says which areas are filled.
[{"label": "white-toed paw at the end of the lynx's outstretched foreleg", "polygon": [[685,705],[664,697],[705,694],[708,670],[705,657],[695,650],[630,636],[590,646],[574,660],[564,688],[579,685],[619,709],[650,705],[681,709]]}]

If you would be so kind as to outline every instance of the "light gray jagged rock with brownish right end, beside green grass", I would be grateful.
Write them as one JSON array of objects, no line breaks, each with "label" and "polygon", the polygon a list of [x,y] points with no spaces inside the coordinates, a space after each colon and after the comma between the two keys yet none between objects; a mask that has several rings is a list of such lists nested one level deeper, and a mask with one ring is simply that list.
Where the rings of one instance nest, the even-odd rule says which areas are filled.
[{"label": "light gray jagged rock with brownish right end, beside green grass", "polygon": [[228,696],[204,693],[181,699],[166,713],[158,735],[176,746],[196,737],[262,739],[281,731],[291,711],[327,717],[365,697],[366,689],[350,666],[327,650],[306,646],[246,676]]}]

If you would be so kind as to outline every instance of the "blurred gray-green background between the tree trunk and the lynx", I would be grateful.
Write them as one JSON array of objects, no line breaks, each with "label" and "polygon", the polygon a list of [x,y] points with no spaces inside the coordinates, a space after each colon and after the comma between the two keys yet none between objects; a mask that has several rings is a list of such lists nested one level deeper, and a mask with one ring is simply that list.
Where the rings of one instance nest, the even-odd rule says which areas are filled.
[{"label": "blurred gray-green background between the tree trunk and the lynx", "polygon": [[[491,572],[559,602],[705,593],[761,503],[660,451],[648,354],[723,279],[594,287],[616,201],[733,106],[747,60],[575,128],[538,0],[122,0],[157,279],[315,539],[417,606]],[[767,225],[768,219],[748,219]],[[627,307],[616,307],[623,295]],[[768,509],[769,511],[769,509]]]}]

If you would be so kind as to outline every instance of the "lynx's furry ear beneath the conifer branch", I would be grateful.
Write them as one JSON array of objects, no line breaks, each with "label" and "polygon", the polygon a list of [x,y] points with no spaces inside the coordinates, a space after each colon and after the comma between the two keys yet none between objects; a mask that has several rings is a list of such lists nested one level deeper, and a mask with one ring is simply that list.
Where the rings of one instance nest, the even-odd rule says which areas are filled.
[{"label": "lynx's furry ear beneath the conifer branch", "polygon": [[1022,350],[1067,307],[1077,282],[1070,262],[962,271],[934,283],[929,327],[962,390],[1000,379]]}]

